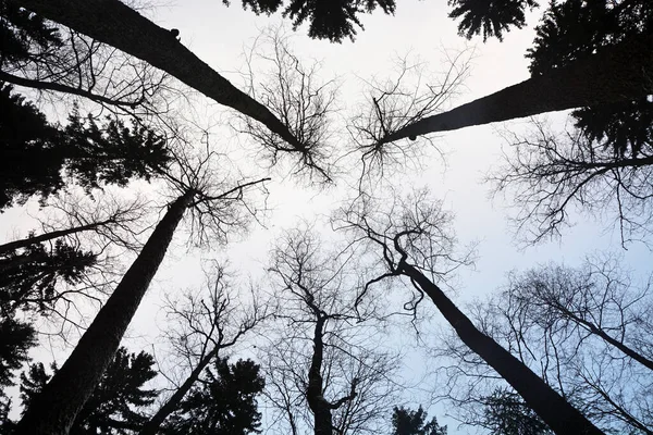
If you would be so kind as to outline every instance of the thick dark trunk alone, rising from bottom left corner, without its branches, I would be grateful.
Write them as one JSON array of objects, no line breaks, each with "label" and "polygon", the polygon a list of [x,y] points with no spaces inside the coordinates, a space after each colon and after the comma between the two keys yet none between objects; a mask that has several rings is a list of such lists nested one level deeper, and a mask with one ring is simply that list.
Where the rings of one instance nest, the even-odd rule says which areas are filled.
[{"label": "thick dark trunk alone, rising from bottom left corner, without its branches", "polygon": [[75,417],[115,355],[193,197],[193,192],[186,192],[170,204],[69,359],[33,399],[16,426],[16,435],[67,434]]}]

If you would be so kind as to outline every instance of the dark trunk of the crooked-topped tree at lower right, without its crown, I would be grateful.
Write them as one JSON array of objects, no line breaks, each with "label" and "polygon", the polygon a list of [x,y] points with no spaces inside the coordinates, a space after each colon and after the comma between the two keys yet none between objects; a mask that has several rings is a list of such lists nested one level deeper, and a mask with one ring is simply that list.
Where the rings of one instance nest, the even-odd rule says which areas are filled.
[{"label": "dark trunk of the crooked-topped tree at lower right, without its crown", "polygon": [[506,380],[556,434],[603,434],[526,364],[480,332],[440,287],[421,272],[405,262],[401,264],[401,271],[429,295],[442,315],[456,330],[463,343]]}]

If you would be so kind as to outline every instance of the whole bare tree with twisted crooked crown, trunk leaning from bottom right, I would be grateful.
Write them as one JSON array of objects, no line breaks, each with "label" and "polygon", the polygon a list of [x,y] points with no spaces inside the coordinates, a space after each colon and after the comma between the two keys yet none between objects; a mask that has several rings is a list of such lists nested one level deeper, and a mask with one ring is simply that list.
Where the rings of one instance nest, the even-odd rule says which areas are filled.
[{"label": "whole bare tree with twisted crooked crown, trunk leaning from bottom right", "polygon": [[361,196],[343,208],[335,222],[353,237],[377,248],[384,272],[380,269],[378,277],[366,288],[384,278],[409,279],[419,295],[417,300],[427,295],[459,339],[506,380],[553,431],[602,433],[523,362],[479,330],[435,284],[443,278],[443,273],[468,263],[469,258],[456,258],[451,215],[427,191],[404,200],[395,199],[386,207]]}]

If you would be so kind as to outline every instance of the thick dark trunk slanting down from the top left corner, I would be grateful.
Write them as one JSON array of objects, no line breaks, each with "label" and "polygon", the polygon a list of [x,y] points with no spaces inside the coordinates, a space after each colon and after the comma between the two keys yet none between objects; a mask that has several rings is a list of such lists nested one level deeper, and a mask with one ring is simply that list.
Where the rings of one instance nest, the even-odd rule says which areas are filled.
[{"label": "thick dark trunk slanting down from the top left corner", "polygon": [[119,0],[11,0],[165,71],[181,82],[252,117],[297,150],[304,146],[264,105],[244,94],[159,27]]}]

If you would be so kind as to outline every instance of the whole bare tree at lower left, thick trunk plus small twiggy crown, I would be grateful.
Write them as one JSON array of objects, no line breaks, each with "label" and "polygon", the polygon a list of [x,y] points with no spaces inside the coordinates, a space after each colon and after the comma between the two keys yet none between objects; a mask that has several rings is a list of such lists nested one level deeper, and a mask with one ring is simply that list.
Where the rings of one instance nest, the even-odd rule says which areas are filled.
[{"label": "whole bare tree at lower left, thick trunk plus small twiggy crown", "polygon": [[[238,179],[238,174],[233,173],[221,176],[217,167],[229,170],[225,164],[218,166],[220,163],[214,160],[220,157],[210,148],[199,150],[195,156],[177,154],[176,164],[165,173],[176,198],[169,203],[138,257],[61,370],[30,402],[19,422],[19,433],[67,432],[120,346],[185,214],[190,219],[190,239],[206,244],[209,238],[225,243],[230,229],[245,231],[251,216],[256,217],[260,212],[261,209],[254,206],[257,199],[251,190],[261,188],[268,178]],[[234,178],[238,181],[234,182]]]}]

